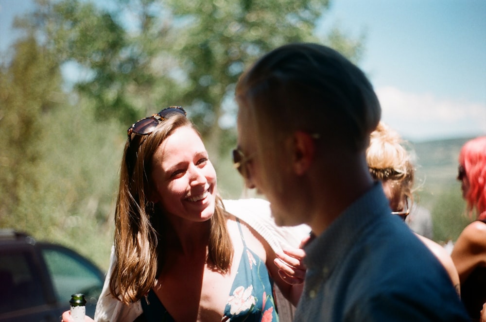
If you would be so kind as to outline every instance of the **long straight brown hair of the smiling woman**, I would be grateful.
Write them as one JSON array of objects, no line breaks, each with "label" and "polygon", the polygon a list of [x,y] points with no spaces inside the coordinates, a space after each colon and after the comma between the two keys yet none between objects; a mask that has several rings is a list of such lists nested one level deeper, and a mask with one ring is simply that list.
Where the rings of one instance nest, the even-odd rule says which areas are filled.
[{"label": "long straight brown hair of the smiling woman", "polygon": [[[155,285],[164,266],[165,209],[150,201],[152,158],[158,146],[180,127],[192,122],[183,115],[164,119],[148,136],[134,136],[127,141],[120,170],[120,187],[115,210],[116,262],[110,279],[110,292],[124,304],[138,301]],[[216,197],[208,241],[208,263],[216,270],[227,271],[233,245],[226,228],[226,211]]]}]

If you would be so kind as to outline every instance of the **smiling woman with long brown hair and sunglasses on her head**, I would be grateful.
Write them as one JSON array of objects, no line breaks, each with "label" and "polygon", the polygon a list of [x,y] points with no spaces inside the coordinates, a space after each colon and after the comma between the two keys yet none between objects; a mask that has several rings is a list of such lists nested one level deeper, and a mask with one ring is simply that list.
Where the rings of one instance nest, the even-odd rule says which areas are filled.
[{"label": "smiling woman with long brown hair and sunglasses on her head", "polygon": [[226,211],[184,109],[141,119],[127,134],[115,245],[95,321],[276,321],[272,280],[295,305],[303,251],[276,254],[267,239],[277,233],[262,233],[262,220],[248,224],[250,217]]}]

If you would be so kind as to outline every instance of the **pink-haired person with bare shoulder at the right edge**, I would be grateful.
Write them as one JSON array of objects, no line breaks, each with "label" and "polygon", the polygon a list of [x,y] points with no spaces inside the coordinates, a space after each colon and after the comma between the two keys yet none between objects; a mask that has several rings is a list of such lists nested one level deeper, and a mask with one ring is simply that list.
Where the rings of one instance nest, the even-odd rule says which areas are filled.
[{"label": "pink-haired person with bare shoulder at the right edge", "polygon": [[469,216],[476,220],[459,235],[451,257],[459,273],[462,301],[471,319],[479,321],[486,302],[486,136],[462,147],[457,180]]}]

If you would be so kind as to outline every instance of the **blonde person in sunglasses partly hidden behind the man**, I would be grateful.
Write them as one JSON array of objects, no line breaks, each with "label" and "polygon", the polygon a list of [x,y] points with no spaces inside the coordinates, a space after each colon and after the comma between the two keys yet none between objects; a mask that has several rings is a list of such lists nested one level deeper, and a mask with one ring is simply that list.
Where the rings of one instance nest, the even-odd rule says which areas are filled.
[{"label": "blonde person in sunglasses partly hidden behind the man", "polygon": [[[388,125],[380,122],[370,135],[366,150],[366,162],[372,177],[382,182],[383,190],[390,201],[392,214],[404,221],[414,206],[413,186],[415,169],[406,142]],[[447,251],[433,240],[416,234],[446,269],[452,285],[459,293],[459,275]]]}]

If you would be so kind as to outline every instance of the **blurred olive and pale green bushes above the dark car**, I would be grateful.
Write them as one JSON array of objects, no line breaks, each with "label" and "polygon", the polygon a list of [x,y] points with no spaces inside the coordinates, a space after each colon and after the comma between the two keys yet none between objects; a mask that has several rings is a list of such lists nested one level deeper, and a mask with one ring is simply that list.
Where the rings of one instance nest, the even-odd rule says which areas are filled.
[{"label": "blurred olive and pale green bushes above the dark car", "polygon": [[0,68],[0,227],[77,248],[106,267],[123,131],[95,121],[92,100],[70,104],[61,85],[56,57],[32,35]]}]

